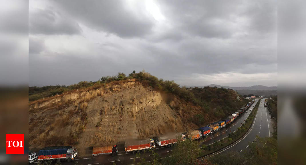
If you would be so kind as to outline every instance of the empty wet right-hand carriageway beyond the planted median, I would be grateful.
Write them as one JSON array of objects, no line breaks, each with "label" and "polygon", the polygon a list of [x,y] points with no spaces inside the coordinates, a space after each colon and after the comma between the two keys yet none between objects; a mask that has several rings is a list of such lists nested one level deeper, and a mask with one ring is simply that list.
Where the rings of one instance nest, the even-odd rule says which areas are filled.
[{"label": "empty wet right-hand carriageway beyond the planted median", "polygon": [[217,154],[222,154],[223,152],[245,152],[248,151],[249,142],[254,142],[256,140],[256,136],[259,137],[270,137],[273,132],[272,119],[270,119],[270,114],[268,112],[268,108],[264,107],[263,101],[259,104],[258,111],[255,117],[255,122],[253,123],[251,130],[247,133],[247,135],[241,139],[238,143],[219,152]]}]

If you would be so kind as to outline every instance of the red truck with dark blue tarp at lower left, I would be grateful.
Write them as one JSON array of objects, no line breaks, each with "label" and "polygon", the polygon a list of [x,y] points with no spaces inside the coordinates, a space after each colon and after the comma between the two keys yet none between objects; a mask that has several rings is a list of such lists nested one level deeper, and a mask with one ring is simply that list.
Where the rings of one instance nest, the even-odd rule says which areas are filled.
[{"label": "red truck with dark blue tarp at lower left", "polygon": [[39,150],[38,161],[56,160],[60,162],[67,160],[67,162],[71,162],[76,156],[77,150],[73,146],[51,146]]}]

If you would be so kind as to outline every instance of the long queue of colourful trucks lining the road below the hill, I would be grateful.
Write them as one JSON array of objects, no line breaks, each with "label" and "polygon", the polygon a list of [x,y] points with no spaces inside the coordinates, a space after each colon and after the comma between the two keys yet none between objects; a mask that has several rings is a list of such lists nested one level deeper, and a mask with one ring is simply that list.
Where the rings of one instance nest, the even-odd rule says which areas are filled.
[{"label": "long queue of colourful trucks lining the road below the hill", "polygon": [[[179,141],[184,141],[186,138],[196,140],[201,139],[204,136],[208,136],[213,132],[216,132],[226,125],[232,123],[239,115],[243,112],[247,112],[246,110],[255,102],[252,100],[247,103],[243,107],[240,108],[239,111],[231,114],[229,117],[222,119],[217,122],[213,122],[207,126],[201,127],[196,130],[192,130],[189,132],[182,133],[170,133],[168,135],[164,135],[161,137],[154,137],[152,139],[130,139],[125,141],[125,152],[131,152],[133,154],[144,152],[145,150],[155,149],[156,146],[166,146],[172,147],[175,143]],[[265,100],[265,107],[267,100]],[[92,149],[92,156],[100,156],[104,154],[110,154],[112,156],[118,154],[118,146],[95,146]],[[77,149],[74,146],[50,146],[45,147],[39,150],[39,154],[35,152],[29,152],[29,163],[37,160],[38,162],[44,162],[47,160],[55,160],[56,162],[60,161],[73,161],[77,157]]]}]

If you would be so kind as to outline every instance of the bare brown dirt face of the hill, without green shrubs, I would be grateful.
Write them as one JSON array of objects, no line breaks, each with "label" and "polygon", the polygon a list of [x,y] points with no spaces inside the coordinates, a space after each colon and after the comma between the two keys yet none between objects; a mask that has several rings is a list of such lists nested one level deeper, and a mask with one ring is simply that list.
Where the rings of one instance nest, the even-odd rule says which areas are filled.
[{"label": "bare brown dirt face of the hill, without green shrubs", "polygon": [[35,102],[29,109],[29,146],[33,149],[69,144],[82,150],[188,129],[159,92],[133,79]]}]

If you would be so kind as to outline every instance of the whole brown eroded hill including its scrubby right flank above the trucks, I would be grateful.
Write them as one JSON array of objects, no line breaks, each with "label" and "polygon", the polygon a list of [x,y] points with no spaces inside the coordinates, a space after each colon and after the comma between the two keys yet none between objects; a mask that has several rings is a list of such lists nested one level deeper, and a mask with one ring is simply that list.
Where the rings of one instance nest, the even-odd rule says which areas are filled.
[{"label": "whole brown eroded hill including its scrubby right flank above the trucks", "polygon": [[[236,92],[228,91],[222,99],[232,102],[227,105],[231,109],[224,111],[214,107],[220,98],[207,101],[201,98],[207,89],[196,90],[201,95],[186,89],[184,95],[167,93],[132,78],[34,101],[29,105],[30,149],[74,145],[84,154],[89,146],[196,129],[244,104]],[[193,101],[180,97],[186,93]]]}]

